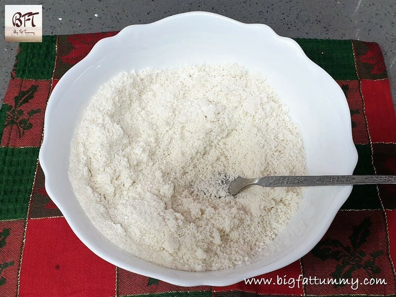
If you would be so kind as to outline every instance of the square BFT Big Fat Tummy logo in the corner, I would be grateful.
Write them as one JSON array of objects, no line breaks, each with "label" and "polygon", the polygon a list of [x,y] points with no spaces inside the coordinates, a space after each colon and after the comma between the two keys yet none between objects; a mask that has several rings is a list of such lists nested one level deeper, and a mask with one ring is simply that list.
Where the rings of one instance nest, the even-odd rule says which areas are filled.
[{"label": "square BFT Big Fat Tummy logo in the corner", "polygon": [[41,42],[42,5],[5,5],[5,41]]}]

